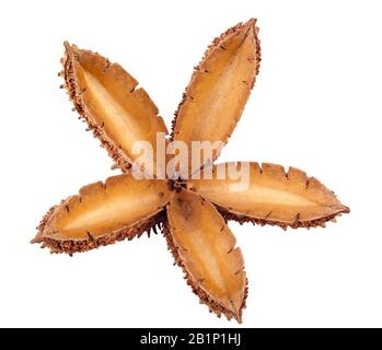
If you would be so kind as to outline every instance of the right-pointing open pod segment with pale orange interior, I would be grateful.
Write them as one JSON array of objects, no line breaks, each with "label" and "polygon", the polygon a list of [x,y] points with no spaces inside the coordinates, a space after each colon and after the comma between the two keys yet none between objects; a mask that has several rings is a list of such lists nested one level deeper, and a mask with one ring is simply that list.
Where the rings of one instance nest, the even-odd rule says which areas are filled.
[{"label": "right-pointing open pod segment with pale orange interior", "polygon": [[[228,176],[220,179],[219,172],[227,174],[230,166],[238,172],[247,166],[245,190],[232,190],[232,185],[240,186],[242,179]],[[262,167],[244,162],[218,164],[211,179],[190,179],[187,186],[219,206],[224,217],[241,222],[310,228],[349,212],[316,178],[294,167],[286,172],[281,165],[269,163],[263,163]]]}]

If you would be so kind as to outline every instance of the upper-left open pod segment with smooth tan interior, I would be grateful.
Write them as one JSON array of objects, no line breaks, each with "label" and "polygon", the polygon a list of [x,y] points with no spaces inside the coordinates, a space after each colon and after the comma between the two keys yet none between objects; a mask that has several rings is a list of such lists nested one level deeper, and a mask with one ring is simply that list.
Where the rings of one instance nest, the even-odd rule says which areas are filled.
[{"label": "upper-left open pod segment with smooth tan interior", "polygon": [[65,47],[66,88],[77,110],[117,166],[127,171],[139,158],[132,154],[135,142],[146,140],[154,147],[157,132],[167,132],[157,106],[119,65],[76,45]]}]

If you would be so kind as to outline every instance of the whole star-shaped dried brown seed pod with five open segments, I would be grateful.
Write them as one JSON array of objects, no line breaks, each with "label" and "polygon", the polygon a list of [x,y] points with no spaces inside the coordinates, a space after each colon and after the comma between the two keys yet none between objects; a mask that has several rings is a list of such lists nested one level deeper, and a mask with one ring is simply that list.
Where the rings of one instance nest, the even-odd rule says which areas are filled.
[{"label": "whole star-shaped dried brown seed pod with five open segments", "polygon": [[[243,256],[227,221],[311,228],[349,212],[317,179],[294,167],[286,172],[280,165],[248,162],[210,166],[221,147],[196,171],[187,151],[189,162],[182,175],[178,166],[164,175],[163,166],[157,166],[158,135],[166,135],[166,147],[183,142],[188,149],[195,141],[228,141],[259,68],[255,23],[235,25],[208,47],[184,93],[171,135],[135,78],[99,54],[65,43],[60,73],[65,86],[124,174],[82,187],[53,207],[33,242],[53,253],[72,255],[139,237],[159,226],[200,302],[219,316],[241,322],[247,283]],[[141,140],[153,149],[150,167],[134,151]],[[174,156],[166,154],[164,164]],[[210,176],[201,176],[207,168]],[[138,170],[151,176],[138,178]],[[233,188],[242,178],[221,176],[230,171],[246,174],[244,189]]]}]

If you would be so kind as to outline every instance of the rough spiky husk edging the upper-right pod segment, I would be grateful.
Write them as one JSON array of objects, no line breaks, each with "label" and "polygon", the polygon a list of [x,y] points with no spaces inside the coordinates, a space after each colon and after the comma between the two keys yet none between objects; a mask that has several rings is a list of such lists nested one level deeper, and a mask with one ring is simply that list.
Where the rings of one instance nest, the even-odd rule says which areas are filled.
[{"label": "rough spiky husk edging the upper-right pod segment", "polygon": [[[254,20],[254,24],[256,23],[256,20]],[[194,67],[194,72],[193,72],[193,75],[192,75],[192,79],[189,80],[189,84],[192,83],[193,81],[193,77],[195,74],[195,72],[197,72],[199,70],[199,67],[204,63],[204,61],[206,60],[206,58],[208,57],[208,55],[212,51],[213,48],[216,48],[217,46],[220,45],[220,43],[225,38],[228,37],[229,35],[231,34],[234,34],[234,33],[238,33],[240,32],[241,30],[243,30],[243,27],[245,26],[245,23],[238,23],[236,25],[228,28],[224,33],[222,33],[220,36],[216,37],[212,43],[210,45],[208,45],[201,60],[199,61],[199,65]],[[256,40],[256,74],[253,79],[253,81],[250,83],[250,86],[251,89],[253,89],[254,84],[255,84],[255,81],[256,81],[256,77],[258,74],[258,71],[259,71],[259,63],[262,61],[262,50],[261,50],[261,40],[257,36],[257,33],[258,33],[258,27],[255,26],[255,40]],[[180,109],[182,107],[182,105],[186,102],[187,100],[187,90],[188,90],[188,85],[187,88],[185,89],[184,93],[182,94],[182,100],[180,102],[180,104],[177,105],[177,108],[176,108],[176,112],[174,113],[174,118],[173,120],[171,121],[171,133],[170,133],[170,141],[173,141],[174,140],[174,128],[175,128],[175,125],[176,125],[176,119],[177,119],[177,116],[180,114]]]}]

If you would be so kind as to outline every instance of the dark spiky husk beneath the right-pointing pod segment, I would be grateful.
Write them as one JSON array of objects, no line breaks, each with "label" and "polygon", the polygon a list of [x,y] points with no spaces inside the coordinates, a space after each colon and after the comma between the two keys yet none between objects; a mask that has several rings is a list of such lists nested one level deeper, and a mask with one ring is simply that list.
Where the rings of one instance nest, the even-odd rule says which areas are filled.
[{"label": "dark spiky husk beneath the right-pointing pod segment", "polygon": [[[282,230],[287,230],[288,228],[291,228],[291,229],[300,229],[300,228],[311,229],[311,228],[319,228],[319,226],[325,228],[326,222],[334,221],[336,217],[339,217],[342,214],[342,213],[335,213],[332,215],[327,215],[324,218],[310,220],[310,221],[300,221],[299,215],[297,215],[294,222],[288,223],[288,222],[280,222],[280,221],[267,220],[267,219],[256,219],[256,218],[252,218],[243,214],[238,214],[224,207],[218,206],[216,203],[213,205],[218,209],[220,214],[224,218],[225,222],[229,220],[236,221],[240,224],[243,224],[245,222],[252,222],[253,224],[258,224],[262,226],[265,226],[265,225],[279,226]],[[350,209],[345,207],[343,213],[349,213],[349,212],[350,212]]]}]

